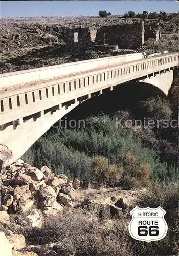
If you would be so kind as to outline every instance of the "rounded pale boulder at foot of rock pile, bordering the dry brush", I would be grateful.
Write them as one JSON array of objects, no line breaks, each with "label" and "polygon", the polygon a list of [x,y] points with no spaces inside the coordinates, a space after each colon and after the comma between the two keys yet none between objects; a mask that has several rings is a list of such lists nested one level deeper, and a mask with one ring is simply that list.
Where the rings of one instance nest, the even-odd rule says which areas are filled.
[{"label": "rounded pale boulder at foot of rock pile, bordering the dry brush", "polygon": [[23,215],[19,215],[16,219],[16,223],[22,226],[38,227],[42,226],[41,215],[38,210],[30,210],[30,212]]}]

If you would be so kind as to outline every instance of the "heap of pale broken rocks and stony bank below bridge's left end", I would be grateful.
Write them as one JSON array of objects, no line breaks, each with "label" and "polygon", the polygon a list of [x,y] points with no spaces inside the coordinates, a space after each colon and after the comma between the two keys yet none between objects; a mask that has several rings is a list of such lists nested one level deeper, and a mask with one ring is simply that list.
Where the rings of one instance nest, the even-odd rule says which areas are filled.
[{"label": "heap of pale broken rocks and stony bank below bridge's left end", "polygon": [[126,218],[129,223],[129,208],[141,193],[141,190],[104,188],[93,181],[88,184],[78,179],[69,181],[64,174],[55,176],[47,166],[39,170],[21,159],[1,169],[0,184],[0,249],[8,256],[69,255],[53,254],[57,248],[63,251],[63,246],[59,241],[50,243],[50,238],[46,244],[38,244],[37,240],[35,245],[29,241],[26,244],[20,230],[40,230],[47,220],[55,222],[59,216],[68,219],[69,214],[75,218],[75,211],[90,207],[98,211],[98,217],[85,221],[103,220],[104,228],[110,230],[115,218]]}]

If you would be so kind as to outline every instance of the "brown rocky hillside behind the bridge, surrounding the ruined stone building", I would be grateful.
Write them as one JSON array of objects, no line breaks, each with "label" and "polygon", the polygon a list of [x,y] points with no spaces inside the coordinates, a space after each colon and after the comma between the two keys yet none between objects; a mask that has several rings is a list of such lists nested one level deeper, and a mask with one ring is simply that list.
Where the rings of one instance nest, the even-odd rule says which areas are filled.
[{"label": "brown rocky hillside behind the bridge, surrounding the ruined stone building", "polygon": [[[37,18],[1,18],[0,26],[0,67],[1,73],[17,70],[46,67],[71,61],[79,61],[116,54],[132,53],[134,50],[118,52],[95,52],[90,49],[72,49],[62,40],[65,28],[91,27],[126,24],[138,19],[125,20],[121,15],[99,17],[37,17]],[[163,34],[175,35],[179,32],[178,17],[168,22],[145,20],[145,23],[160,24]],[[152,44],[153,47],[153,44]],[[141,49],[137,49],[141,51]]]}]

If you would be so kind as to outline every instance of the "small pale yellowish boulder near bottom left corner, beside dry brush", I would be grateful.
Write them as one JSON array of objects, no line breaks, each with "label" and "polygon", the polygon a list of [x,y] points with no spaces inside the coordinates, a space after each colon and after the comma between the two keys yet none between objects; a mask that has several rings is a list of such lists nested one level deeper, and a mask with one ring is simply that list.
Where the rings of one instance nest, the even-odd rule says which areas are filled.
[{"label": "small pale yellowish boulder near bottom left corner, beside dry brush", "polygon": [[26,246],[25,237],[22,234],[12,234],[6,238],[14,250],[20,250]]}]

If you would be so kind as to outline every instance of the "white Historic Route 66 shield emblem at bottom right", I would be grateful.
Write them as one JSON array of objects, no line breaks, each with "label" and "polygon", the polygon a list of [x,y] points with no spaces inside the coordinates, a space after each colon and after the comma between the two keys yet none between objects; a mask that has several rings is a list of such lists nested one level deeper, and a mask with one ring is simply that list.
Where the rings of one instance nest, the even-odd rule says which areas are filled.
[{"label": "white Historic Route 66 shield emblem at bottom right", "polygon": [[160,206],[158,208],[139,208],[136,206],[130,211],[132,220],[129,223],[130,236],[136,240],[157,241],[163,239],[168,231],[164,219],[166,211]]}]

